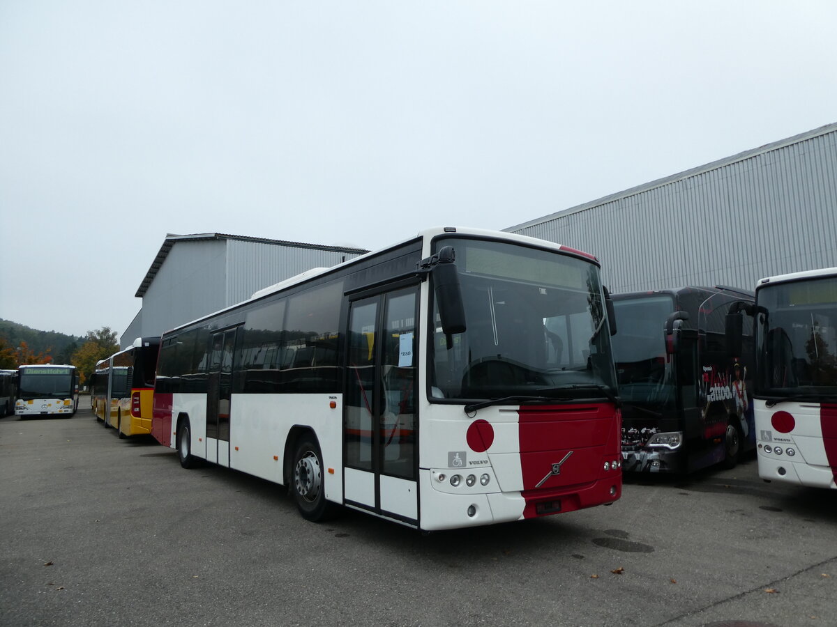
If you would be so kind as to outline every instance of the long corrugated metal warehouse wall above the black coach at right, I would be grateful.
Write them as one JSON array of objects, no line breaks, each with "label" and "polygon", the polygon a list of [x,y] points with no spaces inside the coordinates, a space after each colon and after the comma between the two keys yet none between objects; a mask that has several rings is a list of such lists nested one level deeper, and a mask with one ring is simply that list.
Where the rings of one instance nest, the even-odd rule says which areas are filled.
[{"label": "long corrugated metal warehouse wall above the black coach at right", "polygon": [[614,293],[837,265],[837,124],[509,227],[590,252]]}]

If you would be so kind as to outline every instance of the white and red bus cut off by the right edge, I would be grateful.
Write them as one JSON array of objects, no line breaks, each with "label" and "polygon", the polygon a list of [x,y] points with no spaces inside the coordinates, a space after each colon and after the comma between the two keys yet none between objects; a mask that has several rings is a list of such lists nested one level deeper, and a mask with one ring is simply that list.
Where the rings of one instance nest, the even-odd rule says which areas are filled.
[{"label": "white and red bus cut off by the right edge", "polygon": [[759,477],[834,489],[837,268],[760,280],[755,336]]}]

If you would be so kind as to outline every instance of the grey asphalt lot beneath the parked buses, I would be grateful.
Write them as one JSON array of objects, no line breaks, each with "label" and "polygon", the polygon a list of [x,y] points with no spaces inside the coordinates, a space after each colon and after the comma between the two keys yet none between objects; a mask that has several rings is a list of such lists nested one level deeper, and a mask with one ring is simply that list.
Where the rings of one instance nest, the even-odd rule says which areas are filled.
[{"label": "grey asphalt lot beneath the parked buses", "polygon": [[0,419],[0,625],[837,625],[837,493],[756,461],[626,477],[611,507],[423,535],[308,523],[71,419]]}]

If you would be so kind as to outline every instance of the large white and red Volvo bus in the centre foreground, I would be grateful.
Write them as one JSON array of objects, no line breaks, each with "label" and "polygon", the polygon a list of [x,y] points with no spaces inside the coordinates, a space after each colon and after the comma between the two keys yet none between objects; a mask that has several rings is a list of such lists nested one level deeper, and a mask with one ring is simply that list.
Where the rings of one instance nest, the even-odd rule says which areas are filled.
[{"label": "large white and red Volvo bus in the centre foreground", "polygon": [[622,492],[614,332],[598,261],[454,227],[303,273],[162,336],[152,433],[430,531]]}]

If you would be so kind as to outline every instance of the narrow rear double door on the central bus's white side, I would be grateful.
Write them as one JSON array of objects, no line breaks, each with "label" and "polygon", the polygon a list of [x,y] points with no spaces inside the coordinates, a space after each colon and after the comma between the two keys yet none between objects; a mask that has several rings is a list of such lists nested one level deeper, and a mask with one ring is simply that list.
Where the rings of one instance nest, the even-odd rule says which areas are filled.
[{"label": "narrow rear double door on the central bus's white side", "polygon": [[207,460],[229,466],[229,400],[236,329],[212,336],[207,392]]}]

